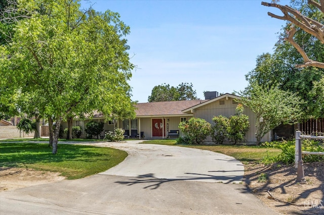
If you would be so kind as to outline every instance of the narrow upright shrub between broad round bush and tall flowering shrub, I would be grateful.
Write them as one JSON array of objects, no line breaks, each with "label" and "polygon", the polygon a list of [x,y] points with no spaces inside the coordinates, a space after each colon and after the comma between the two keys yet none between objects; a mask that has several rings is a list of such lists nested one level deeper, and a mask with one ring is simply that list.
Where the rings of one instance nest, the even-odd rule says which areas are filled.
[{"label": "narrow upright shrub between broad round bush and tall flowering shrub", "polygon": [[229,121],[227,117],[222,115],[213,117],[214,124],[211,127],[211,136],[213,138],[213,142],[222,144],[223,141],[228,137],[228,127]]}]

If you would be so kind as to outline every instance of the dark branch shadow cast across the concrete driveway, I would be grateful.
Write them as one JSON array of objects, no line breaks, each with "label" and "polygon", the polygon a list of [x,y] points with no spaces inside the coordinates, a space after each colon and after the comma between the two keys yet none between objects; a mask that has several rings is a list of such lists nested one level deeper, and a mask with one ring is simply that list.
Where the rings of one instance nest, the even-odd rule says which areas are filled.
[{"label": "dark branch shadow cast across the concrete driveway", "polygon": [[[218,171],[209,171],[209,172],[218,172]],[[220,171],[222,172],[222,171]],[[236,171],[226,171],[226,172],[236,172]],[[198,174],[198,173],[185,173],[188,174],[186,176],[179,176],[173,179],[162,179],[156,178],[155,174],[148,173],[144,175],[138,175],[135,179],[130,179],[128,181],[116,181],[115,183],[124,184],[127,186],[135,185],[135,184],[148,184],[143,187],[143,189],[158,189],[162,184],[173,182],[173,181],[203,181],[203,180],[214,180],[218,183],[229,184],[242,180],[242,176],[215,176],[215,175],[207,175],[207,174]]]}]

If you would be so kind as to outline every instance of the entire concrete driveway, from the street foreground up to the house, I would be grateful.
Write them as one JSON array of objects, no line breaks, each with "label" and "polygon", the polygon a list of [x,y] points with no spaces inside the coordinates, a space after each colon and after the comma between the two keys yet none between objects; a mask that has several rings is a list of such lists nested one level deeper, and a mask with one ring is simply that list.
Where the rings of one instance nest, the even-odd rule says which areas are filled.
[{"label": "entire concrete driveway, from the street foreground up to the house", "polygon": [[205,150],[83,143],[125,150],[103,173],[0,193],[0,214],[277,214],[239,184],[244,167]]}]

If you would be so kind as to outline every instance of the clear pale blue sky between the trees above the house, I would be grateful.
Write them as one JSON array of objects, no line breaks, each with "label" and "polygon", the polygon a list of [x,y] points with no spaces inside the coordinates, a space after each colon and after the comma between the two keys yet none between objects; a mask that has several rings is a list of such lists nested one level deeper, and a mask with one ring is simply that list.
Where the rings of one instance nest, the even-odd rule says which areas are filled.
[{"label": "clear pale blue sky between the trees above the house", "polygon": [[[269,0],[268,2],[271,2]],[[288,5],[290,1],[280,1]],[[138,69],[129,82],[132,100],[147,102],[160,84],[193,84],[204,91],[231,93],[247,85],[256,58],[273,52],[284,21],[278,9],[261,1],[92,1],[96,11],[111,10],[131,28],[131,62]]]}]

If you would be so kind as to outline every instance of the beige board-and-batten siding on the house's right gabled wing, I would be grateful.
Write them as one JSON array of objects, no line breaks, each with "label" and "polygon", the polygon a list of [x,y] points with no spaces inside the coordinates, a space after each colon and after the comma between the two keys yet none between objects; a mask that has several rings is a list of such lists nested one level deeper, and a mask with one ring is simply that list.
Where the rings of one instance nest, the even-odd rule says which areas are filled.
[{"label": "beige board-and-batten siding on the house's right gabled wing", "polygon": [[[194,110],[194,117],[205,119],[207,122],[213,124],[214,116],[225,116],[230,117],[235,114],[237,103],[233,98],[228,97],[228,99],[224,98],[221,100],[216,100],[212,103],[206,104]],[[244,114],[249,116],[250,129],[245,136],[244,142],[255,143],[257,141],[255,137],[255,133],[257,128],[255,126],[256,123],[256,115],[252,112],[250,108],[244,106]],[[212,141],[211,137],[206,139],[207,142]],[[262,142],[271,141],[271,133],[267,133],[261,140]]]}]

